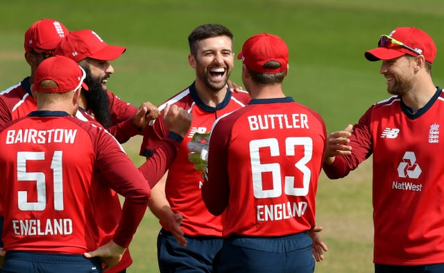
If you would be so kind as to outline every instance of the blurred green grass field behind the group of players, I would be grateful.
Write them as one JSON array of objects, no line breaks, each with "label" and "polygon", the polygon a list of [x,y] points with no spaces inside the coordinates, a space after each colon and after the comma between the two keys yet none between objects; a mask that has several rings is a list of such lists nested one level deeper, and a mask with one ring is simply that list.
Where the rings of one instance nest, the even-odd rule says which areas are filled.
[{"label": "blurred green grass field behind the group of players", "polygon": [[[280,35],[290,51],[284,91],[320,113],[328,131],[345,128],[374,102],[388,97],[379,63],[364,59],[379,35],[416,26],[434,38],[434,81],[444,85],[442,0],[96,0],[2,1],[0,3],[0,90],[29,74],[24,32],[37,19],[60,20],[70,30],[92,28],[109,44],[128,48],[112,65],[108,88],[135,105],[160,104],[194,79],[187,36],[199,24],[219,23],[234,33],[234,51],[250,35]],[[241,84],[236,60],[232,80]],[[124,147],[136,165],[140,138]],[[329,247],[316,272],[373,272],[371,163],[341,181],[321,176],[317,222]],[[158,272],[155,238],[159,224],[150,212],[130,249],[128,272]]]}]

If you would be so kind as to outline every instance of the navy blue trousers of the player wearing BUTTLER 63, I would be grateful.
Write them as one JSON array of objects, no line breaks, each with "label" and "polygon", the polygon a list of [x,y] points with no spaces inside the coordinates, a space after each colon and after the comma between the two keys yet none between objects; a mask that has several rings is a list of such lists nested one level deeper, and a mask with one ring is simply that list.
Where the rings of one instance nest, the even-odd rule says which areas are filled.
[{"label": "navy blue trousers of the player wearing BUTTLER 63", "polygon": [[273,237],[233,235],[214,259],[216,273],[313,273],[313,241],[307,232]]}]

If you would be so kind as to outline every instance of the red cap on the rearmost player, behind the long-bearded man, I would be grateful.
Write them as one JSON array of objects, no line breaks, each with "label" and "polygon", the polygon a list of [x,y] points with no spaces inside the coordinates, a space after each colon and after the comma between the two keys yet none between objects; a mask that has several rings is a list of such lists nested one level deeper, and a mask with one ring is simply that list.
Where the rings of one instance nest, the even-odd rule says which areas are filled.
[{"label": "red cap on the rearmost player, behind the long-bearded man", "polygon": [[25,33],[24,47],[27,52],[52,51],[69,31],[62,23],[53,19],[35,22]]}]

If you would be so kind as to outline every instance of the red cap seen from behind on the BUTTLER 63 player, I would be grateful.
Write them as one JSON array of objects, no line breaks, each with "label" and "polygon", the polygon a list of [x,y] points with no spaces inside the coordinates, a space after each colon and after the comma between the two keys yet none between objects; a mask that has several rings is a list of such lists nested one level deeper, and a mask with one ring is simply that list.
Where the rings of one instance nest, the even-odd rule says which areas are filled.
[{"label": "red cap seen from behind on the BUTTLER 63 player", "polygon": [[[242,47],[237,58],[251,70],[257,73],[274,74],[284,72],[289,63],[289,49],[287,44],[276,35],[261,33],[253,35]],[[281,67],[276,69],[264,68],[269,61],[280,63]]]}]

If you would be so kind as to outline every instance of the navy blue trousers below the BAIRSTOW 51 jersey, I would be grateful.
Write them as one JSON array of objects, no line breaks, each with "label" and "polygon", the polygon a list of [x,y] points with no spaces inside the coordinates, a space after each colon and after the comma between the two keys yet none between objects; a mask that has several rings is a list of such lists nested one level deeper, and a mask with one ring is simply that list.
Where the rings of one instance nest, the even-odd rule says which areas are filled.
[{"label": "navy blue trousers below the BAIRSTOW 51 jersey", "polygon": [[83,255],[8,251],[1,273],[101,273],[99,258]]}]

